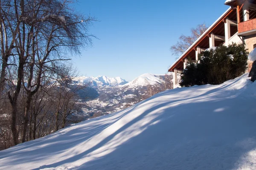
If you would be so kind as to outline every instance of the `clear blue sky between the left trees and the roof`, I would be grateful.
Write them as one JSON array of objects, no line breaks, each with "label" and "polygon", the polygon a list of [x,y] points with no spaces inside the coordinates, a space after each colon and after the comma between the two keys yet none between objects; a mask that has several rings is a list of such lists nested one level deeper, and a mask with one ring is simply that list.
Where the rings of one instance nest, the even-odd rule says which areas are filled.
[{"label": "clear blue sky between the left trees and the roof", "polygon": [[224,0],[80,0],[78,11],[100,22],[90,27],[93,47],[73,57],[82,75],[122,77],[165,74],[177,56],[169,50],[181,34],[211,25],[228,6]]}]

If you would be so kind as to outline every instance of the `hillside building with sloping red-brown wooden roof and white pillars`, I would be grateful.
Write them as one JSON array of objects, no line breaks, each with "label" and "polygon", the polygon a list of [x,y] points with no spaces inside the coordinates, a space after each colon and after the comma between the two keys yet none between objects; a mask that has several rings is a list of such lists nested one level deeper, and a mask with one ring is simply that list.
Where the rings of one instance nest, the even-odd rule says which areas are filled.
[{"label": "hillside building with sloping red-brown wooden roof and white pillars", "polygon": [[256,0],[227,0],[225,5],[230,8],[169,68],[168,71],[174,72],[174,88],[179,84],[177,74],[186,68],[188,58],[196,62],[198,54],[207,48],[232,42],[244,43],[249,52],[256,48]]}]

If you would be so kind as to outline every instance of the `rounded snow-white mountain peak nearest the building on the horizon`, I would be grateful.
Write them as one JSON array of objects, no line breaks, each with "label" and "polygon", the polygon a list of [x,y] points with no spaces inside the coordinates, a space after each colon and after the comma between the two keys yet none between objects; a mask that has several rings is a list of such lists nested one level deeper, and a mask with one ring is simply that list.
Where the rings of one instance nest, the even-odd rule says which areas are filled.
[{"label": "rounded snow-white mountain peak nearest the building on the horizon", "polygon": [[[147,85],[156,85],[163,83],[163,79],[160,78],[161,76],[157,76],[154,74],[146,73],[143,74],[131,82],[123,85],[124,87],[138,87],[138,86],[147,86]],[[162,75],[163,77],[163,75]]]}]

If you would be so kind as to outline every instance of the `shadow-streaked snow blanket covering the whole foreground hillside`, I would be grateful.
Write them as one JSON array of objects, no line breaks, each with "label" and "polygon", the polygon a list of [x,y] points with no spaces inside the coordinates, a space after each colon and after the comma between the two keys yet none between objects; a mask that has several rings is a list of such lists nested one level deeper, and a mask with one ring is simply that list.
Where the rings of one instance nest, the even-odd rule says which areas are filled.
[{"label": "shadow-streaked snow blanket covering the whole foreground hillside", "polygon": [[256,82],[164,91],[0,151],[1,170],[255,170]]}]

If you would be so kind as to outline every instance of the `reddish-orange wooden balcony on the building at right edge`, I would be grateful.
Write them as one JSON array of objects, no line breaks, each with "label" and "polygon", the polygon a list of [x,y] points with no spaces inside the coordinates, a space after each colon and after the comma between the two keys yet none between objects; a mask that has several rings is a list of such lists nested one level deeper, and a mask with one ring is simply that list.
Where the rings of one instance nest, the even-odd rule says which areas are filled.
[{"label": "reddish-orange wooden balcony on the building at right edge", "polygon": [[256,18],[238,24],[238,35],[249,36],[256,34]]}]

